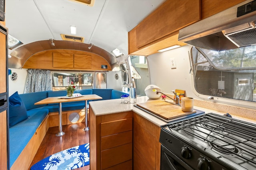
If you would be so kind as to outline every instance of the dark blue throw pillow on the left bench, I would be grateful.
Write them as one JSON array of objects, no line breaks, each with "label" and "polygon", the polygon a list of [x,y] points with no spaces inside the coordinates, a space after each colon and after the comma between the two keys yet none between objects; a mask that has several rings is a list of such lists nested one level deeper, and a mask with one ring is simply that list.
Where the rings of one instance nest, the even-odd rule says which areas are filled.
[{"label": "dark blue throw pillow on the left bench", "polygon": [[20,123],[28,118],[25,104],[22,102],[18,92],[9,97],[9,127]]}]

